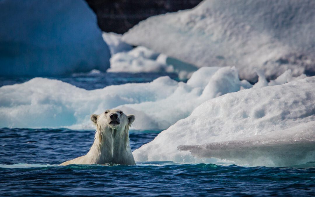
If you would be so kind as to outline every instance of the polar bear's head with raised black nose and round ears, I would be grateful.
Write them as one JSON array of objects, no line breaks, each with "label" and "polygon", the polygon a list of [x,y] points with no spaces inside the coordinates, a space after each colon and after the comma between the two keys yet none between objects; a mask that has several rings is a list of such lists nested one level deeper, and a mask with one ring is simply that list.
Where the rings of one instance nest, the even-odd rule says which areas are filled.
[{"label": "polar bear's head with raised black nose and round ears", "polygon": [[129,126],[135,121],[135,116],[126,115],[119,109],[108,109],[100,115],[92,114],[91,120],[97,129],[105,130],[106,128],[111,128],[120,130],[126,127],[129,129]]}]

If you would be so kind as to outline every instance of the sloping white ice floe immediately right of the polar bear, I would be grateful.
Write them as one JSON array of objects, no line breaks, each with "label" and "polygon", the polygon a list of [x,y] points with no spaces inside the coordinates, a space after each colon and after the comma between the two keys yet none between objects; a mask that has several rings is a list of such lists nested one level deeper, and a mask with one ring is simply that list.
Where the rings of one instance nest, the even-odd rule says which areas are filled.
[{"label": "sloping white ice floe immediately right of the polar bear", "polygon": [[200,162],[193,154],[242,165],[290,166],[313,161],[314,87],[315,77],[308,77],[210,99],[135,150],[135,160]]}]

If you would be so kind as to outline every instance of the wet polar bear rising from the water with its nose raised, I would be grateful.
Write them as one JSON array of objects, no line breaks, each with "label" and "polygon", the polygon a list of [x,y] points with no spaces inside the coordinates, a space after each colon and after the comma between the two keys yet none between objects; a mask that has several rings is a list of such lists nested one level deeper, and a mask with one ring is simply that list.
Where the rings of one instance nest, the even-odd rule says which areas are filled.
[{"label": "wet polar bear rising from the water with its nose raised", "polygon": [[96,125],[94,143],[89,152],[81,157],[66,161],[69,164],[105,164],[135,165],[129,145],[129,126],[135,121],[134,115],[125,115],[119,109],[106,110],[100,115],[92,114]]}]

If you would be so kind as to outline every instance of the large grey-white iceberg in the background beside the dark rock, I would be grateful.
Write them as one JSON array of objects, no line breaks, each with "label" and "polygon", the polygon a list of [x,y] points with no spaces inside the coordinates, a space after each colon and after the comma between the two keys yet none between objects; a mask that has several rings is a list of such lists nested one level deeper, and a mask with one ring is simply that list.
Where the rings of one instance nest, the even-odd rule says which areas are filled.
[{"label": "large grey-white iceberg in the background beside the dark rock", "polygon": [[315,73],[315,1],[205,0],[192,10],[150,17],[123,35],[132,45],[198,67],[231,66],[256,81]]}]

